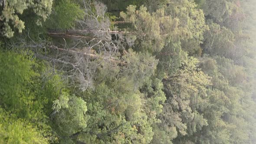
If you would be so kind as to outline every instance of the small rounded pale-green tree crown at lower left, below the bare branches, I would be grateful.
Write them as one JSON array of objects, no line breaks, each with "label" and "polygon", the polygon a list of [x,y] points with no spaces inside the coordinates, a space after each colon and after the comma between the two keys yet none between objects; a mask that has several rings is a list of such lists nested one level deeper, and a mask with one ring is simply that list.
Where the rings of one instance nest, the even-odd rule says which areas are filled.
[{"label": "small rounded pale-green tree crown at lower left, below the bare branches", "polygon": [[54,116],[53,121],[59,134],[70,136],[86,128],[89,116],[86,115],[87,106],[82,98],[63,92],[59,101],[54,102],[53,108],[58,113]]}]

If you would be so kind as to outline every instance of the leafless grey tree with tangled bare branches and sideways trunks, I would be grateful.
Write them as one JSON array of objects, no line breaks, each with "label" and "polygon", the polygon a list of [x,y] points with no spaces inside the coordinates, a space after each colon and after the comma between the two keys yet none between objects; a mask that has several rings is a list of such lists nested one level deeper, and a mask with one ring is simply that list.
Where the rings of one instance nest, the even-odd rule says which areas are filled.
[{"label": "leafless grey tree with tangled bare branches and sideways trunks", "polygon": [[[11,47],[33,50],[37,58],[53,64],[54,72],[65,74],[65,79],[71,86],[85,91],[93,87],[97,68],[102,62],[125,65],[125,62],[117,60],[125,42],[123,33],[110,31],[110,20],[105,16],[106,7],[102,3],[94,2],[96,12],[92,13],[91,1],[83,2],[85,18],[78,21],[74,29],[62,33],[49,32],[49,36],[59,39],[58,41],[47,42],[45,38],[38,36],[39,42],[35,42],[28,32],[25,39]],[[112,38],[113,35],[115,39]],[[26,39],[29,39],[29,43]]]}]

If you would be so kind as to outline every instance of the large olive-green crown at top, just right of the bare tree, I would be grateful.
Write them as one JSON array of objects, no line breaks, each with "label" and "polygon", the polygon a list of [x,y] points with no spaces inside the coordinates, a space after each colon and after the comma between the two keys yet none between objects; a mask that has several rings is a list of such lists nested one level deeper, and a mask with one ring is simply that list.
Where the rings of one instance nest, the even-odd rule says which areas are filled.
[{"label": "large olive-green crown at top, just right of the bare tree", "polygon": [[150,52],[160,52],[168,43],[181,40],[186,43],[189,39],[199,46],[203,32],[208,29],[203,11],[189,0],[171,1],[168,5],[171,7],[164,5],[152,13],[143,5],[139,10],[130,5],[120,16],[132,23],[131,30],[135,30],[141,47]]}]

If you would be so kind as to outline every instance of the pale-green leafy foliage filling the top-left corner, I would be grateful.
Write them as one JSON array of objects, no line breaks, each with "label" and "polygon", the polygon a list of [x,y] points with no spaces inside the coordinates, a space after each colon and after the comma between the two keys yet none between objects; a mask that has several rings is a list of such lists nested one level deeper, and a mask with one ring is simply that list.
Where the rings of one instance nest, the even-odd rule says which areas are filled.
[{"label": "pale-green leafy foliage filling the top-left corner", "polygon": [[[3,29],[0,33],[8,38],[13,37],[14,31],[17,29],[19,33],[25,28],[25,24],[20,20],[19,15],[24,10],[33,9],[34,13],[43,21],[49,16],[52,10],[53,0],[4,0],[3,10],[0,16],[0,22],[3,23]],[[1,6],[2,7],[2,6]],[[37,21],[40,25],[40,20]],[[11,28],[13,26],[13,28]]]}]

